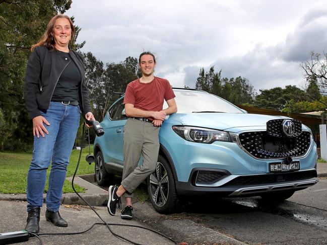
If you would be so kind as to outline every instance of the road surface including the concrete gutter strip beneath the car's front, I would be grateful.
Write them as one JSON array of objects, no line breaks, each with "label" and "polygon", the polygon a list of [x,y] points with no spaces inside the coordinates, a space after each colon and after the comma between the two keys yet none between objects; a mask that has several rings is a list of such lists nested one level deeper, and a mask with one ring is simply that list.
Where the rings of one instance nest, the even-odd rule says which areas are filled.
[{"label": "road surface including the concrete gutter strip beneath the car's front", "polygon": [[187,244],[220,244],[221,237],[214,237],[219,232],[248,244],[327,244],[326,178],[279,204],[260,197],[198,198],[170,215],[156,213],[151,204],[136,208],[137,219]]}]

